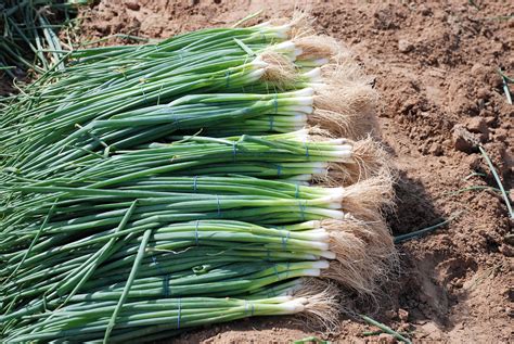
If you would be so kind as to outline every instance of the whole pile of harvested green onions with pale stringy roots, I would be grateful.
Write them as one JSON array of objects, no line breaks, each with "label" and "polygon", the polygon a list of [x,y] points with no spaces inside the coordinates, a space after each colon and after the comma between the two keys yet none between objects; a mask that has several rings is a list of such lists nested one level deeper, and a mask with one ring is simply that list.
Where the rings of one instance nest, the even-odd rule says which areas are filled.
[{"label": "whole pile of harvested green onions with pale stringy roots", "polygon": [[395,258],[375,100],[303,16],[69,52],[0,118],[2,339],[330,327]]}]

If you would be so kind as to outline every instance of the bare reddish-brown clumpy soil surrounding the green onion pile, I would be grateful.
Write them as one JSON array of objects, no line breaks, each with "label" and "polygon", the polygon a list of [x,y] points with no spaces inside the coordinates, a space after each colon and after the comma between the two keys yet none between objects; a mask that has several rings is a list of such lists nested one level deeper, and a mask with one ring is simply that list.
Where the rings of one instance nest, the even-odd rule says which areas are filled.
[{"label": "bare reddish-brown clumpy soil surrounding the green onion pile", "polygon": [[[264,17],[287,16],[297,2],[102,0],[81,14],[82,35],[169,37],[232,24],[260,9]],[[384,284],[378,302],[356,307],[394,329],[413,332],[414,342],[512,341],[514,247],[505,235],[513,221],[496,192],[455,191],[497,187],[477,142],[505,189],[513,188],[514,106],[506,103],[497,69],[514,75],[514,4],[319,1],[310,12],[319,33],[346,42],[376,77],[378,135],[399,171],[397,209],[389,215],[394,233],[460,214],[449,226],[400,244],[400,269]],[[340,343],[391,341],[363,337],[370,329],[344,318],[338,332],[326,334],[292,318],[266,318],[192,331],[176,342],[286,343],[308,335]]]}]

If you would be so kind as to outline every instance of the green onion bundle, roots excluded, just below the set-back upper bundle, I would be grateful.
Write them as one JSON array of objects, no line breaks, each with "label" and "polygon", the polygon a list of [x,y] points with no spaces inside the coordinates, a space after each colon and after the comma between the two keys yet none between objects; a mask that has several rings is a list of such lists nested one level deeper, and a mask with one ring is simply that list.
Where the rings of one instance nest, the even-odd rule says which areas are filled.
[{"label": "green onion bundle, roots excluded, just below the set-back upper bundle", "polygon": [[[275,94],[198,94],[187,95],[166,105],[129,111],[105,119],[76,125],[69,136],[48,132],[44,144],[28,146],[25,158],[31,169],[63,164],[85,155],[114,153],[138,144],[151,143],[179,130],[217,128],[223,123],[239,123],[257,116],[282,114],[287,124],[312,112],[312,90]],[[278,119],[279,124],[280,120]],[[73,120],[69,122],[72,127]],[[301,128],[298,124],[295,127]],[[49,130],[52,130],[49,127]],[[242,132],[244,129],[240,129]],[[243,131],[244,132],[244,131]],[[23,161],[16,168],[24,169]]]}]

